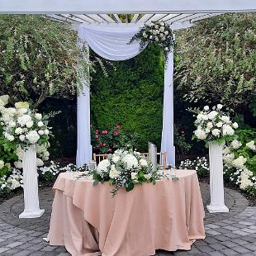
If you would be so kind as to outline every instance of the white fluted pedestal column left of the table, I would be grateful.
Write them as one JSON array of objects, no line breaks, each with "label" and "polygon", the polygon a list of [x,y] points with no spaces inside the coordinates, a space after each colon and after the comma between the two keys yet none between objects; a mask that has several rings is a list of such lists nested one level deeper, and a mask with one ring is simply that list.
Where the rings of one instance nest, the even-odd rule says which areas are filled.
[{"label": "white fluted pedestal column left of the table", "polygon": [[38,198],[38,177],[36,168],[36,146],[23,150],[22,155],[24,204],[25,209],[20,218],[38,218],[45,210],[40,210]]}]

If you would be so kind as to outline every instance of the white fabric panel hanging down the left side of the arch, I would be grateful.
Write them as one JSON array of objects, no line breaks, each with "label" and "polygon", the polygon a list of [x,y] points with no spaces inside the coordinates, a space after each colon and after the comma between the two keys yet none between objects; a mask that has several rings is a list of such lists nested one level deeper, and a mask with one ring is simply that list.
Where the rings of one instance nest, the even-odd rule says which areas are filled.
[{"label": "white fabric panel hanging down the left side of the arch", "polygon": [[[89,47],[83,41],[79,42],[78,46],[83,47],[83,56],[89,61]],[[92,160],[92,145],[91,145],[91,124],[90,124],[90,84],[89,84],[89,69],[88,79],[81,78],[83,83],[83,92],[78,95],[77,102],[77,166],[88,164]]]}]

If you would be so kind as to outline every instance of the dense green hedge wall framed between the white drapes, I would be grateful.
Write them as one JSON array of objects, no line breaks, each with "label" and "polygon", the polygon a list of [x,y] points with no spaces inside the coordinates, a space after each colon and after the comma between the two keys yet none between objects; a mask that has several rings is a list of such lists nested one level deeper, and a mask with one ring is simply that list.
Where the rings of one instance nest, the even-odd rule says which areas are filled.
[{"label": "dense green hedge wall framed between the white drapes", "polygon": [[164,92],[164,56],[149,46],[134,59],[115,63],[108,77],[92,75],[92,123],[99,129],[120,124],[139,133],[138,150],[160,146]]}]

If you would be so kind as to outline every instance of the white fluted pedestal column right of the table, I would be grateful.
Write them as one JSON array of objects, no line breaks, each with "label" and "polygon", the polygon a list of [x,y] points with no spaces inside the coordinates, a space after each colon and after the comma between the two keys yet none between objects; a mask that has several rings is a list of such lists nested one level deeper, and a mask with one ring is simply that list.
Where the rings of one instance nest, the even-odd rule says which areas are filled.
[{"label": "white fluted pedestal column right of the table", "polygon": [[211,204],[206,207],[211,213],[229,212],[224,202],[222,149],[223,145],[209,145]]}]

